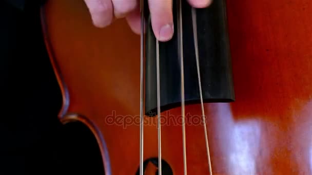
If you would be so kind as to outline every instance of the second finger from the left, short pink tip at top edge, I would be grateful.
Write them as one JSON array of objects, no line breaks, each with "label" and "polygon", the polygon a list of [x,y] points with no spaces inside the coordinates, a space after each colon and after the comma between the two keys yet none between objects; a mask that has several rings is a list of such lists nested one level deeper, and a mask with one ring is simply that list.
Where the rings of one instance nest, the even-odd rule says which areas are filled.
[{"label": "second finger from the left, short pink tip at top edge", "polygon": [[136,0],[112,0],[114,15],[116,18],[125,17],[138,6]]}]

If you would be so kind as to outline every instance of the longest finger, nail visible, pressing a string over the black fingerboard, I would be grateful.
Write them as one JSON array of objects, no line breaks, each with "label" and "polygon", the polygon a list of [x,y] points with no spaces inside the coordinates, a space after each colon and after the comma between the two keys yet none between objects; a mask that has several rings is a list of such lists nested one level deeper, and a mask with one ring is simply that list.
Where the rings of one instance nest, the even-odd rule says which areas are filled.
[{"label": "longest finger, nail visible, pressing a string over the black fingerboard", "polygon": [[168,41],[173,36],[172,0],[148,0],[152,29],[160,41]]}]

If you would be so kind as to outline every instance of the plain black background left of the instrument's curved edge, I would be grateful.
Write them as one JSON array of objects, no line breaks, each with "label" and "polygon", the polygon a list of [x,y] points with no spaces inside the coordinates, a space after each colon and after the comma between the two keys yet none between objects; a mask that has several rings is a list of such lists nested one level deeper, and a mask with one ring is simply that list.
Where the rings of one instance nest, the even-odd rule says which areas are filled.
[{"label": "plain black background left of the instrument's curved edge", "polygon": [[103,174],[88,128],[57,118],[62,96],[38,2],[0,2],[0,174]]}]

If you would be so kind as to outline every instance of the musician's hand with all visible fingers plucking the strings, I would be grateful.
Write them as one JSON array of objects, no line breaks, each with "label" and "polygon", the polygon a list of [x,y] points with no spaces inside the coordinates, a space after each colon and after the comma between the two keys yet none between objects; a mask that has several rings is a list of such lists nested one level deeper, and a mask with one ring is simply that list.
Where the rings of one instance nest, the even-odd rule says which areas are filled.
[{"label": "musician's hand with all visible fingers plucking the strings", "polygon": [[[106,27],[113,18],[126,17],[133,32],[141,33],[139,0],[84,0],[96,27]],[[194,8],[205,8],[212,0],[188,0]],[[173,32],[172,0],[148,0],[152,29],[160,41],[170,40]]]}]

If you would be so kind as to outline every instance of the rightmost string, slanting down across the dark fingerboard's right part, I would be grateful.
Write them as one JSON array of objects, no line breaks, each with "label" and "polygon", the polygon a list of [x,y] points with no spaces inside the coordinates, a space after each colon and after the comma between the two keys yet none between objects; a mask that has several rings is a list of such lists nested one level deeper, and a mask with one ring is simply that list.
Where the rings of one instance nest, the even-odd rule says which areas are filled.
[{"label": "rightmost string, slanting down across the dark fingerboard's right part", "polygon": [[202,94],[202,84],[201,84],[200,69],[199,69],[197,20],[196,20],[196,11],[194,8],[192,8],[192,24],[193,24],[196,65],[197,65],[197,77],[198,77],[198,83],[199,83],[199,94],[200,94],[200,99],[201,99],[202,116],[203,116],[204,131],[205,131],[206,151],[207,151],[207,158],[208,158],[209,173],[210,173],[210,175],[212,175],[212,168],[211,168],[211,161],[210,161],[210,154],[209,154],[208,136],[207,136],[207,128],[206,128],[206,120],[205,120],[205,112],[204,112],[203,94]]}]

